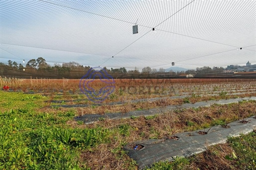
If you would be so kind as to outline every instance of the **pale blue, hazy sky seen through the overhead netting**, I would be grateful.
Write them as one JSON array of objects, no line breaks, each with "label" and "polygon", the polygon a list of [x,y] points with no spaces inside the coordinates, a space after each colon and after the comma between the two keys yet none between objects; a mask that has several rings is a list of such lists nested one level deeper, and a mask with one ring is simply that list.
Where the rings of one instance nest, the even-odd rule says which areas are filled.
[{"label": "pale blue, hazy sky seen through the overhead netting", "polygon": [[140,70],[256,64],[256,0],[0,0],[0,62],[38,57]]}]

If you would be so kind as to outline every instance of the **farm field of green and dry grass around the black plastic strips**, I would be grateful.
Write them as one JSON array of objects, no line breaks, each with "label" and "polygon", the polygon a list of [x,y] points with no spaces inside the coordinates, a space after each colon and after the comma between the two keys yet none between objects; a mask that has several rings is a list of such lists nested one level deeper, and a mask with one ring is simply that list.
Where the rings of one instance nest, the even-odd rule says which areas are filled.
[{"label": "farm field of green and dry grass around the black plastic strips", "polygon": [[[136,140],[162,139],[178,132],[228,125],[256,115],[256,101],[176,109],[154,116],[99,119],[85,125],[75,117],[126,114],[171,105],[255,97],[256,79],[115,80],[101,103],[89,100],[80,80],[1,79],[0,169],[137,170],[123,147]],[[94,89],[104,87],[95,80]],[[147,170],[256,169],[256,132],[229,138],[206,152]],[[243,139],[243,140],[242,140]]]}]

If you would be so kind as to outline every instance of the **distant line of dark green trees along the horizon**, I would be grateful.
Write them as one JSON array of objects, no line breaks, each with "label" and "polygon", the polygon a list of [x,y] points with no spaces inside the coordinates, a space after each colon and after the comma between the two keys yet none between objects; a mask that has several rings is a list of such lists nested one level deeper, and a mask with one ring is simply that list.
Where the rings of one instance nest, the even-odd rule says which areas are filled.
[{"label": "distant line of dark green trees along the horizon", "polygon": [[[91,69],[90,66],[83,66],[77,62],[67,62],[54,66],[49,65],[42,57],[29,60],[25,67],[17,62],[7,61],[8,64],[0,63],[0,76],[16,77],[16,78],[50,78],[50,79],[81,79]],[[187,71],[166,71],[164,68],[159,70],[151,67],[144,67],[140,72],[135,67],[133,70],[128,70],[125,67],[122,68],[103,68],[113,78],[178,78],[180,75],[193,75],[194,77],[200,77],[204,75],[223,75],[225,68],[223,67],[201,67],[195,70]]]}]

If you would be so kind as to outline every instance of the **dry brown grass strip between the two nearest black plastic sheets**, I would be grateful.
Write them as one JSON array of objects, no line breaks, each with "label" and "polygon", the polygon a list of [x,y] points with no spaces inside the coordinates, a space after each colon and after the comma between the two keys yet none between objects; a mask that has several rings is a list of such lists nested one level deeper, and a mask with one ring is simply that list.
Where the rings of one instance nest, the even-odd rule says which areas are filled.
[{"label": "dry brown grass strip between the two nearest black plastic sheets", "polygon": [[[238,105],[240,105],[238,110]],[[198,109],[174,110],[164,114],[147,118],[140,116],[136,119],[121,120],[103,120],[85,127],[104,127],[111,128],[120,124],[128,124],[138,130],[133,130],[133,136],[136,139],[148,139],[154,135],[156,138],[162,138],[172,133],[190,131],[203,127],[210,127],[218,123],[229,123],[239,120],[238,112],[241,117],[255,115],[256,101],[245,102],[242,104],[232,103],[229,105],[212,105],[211,107],[202,107]],[[154,129],[154,132],[152,132]],[[145,135],[141,136],[141,132]],[[131,141],[129,141],[131,142]]]}]

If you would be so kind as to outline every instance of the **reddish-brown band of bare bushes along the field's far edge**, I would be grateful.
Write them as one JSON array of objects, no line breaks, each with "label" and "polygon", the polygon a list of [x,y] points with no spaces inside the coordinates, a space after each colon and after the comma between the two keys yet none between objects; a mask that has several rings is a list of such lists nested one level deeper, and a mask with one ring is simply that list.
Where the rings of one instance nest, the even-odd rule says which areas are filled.
[{"label": "reddish-brown band of bare bushes along the field's far edge", "polygon": [[[137,88],[140,90],[141,87],[145,89],[150,88],[155,91],[157,88],[168,88],[170,86],[178,87],[188,91],[191,88],[202,88],[205,87],[213,88],[215,86],[219,88],[223,87],[245,87],[249,85],[255,85],[256,79],[116,79],[116,89],[127,89],[127,87]],[[27,90],[63,90],[63,91],[80,91],[79,83],[80,80],[69,80],[69,79],[0,79],[1,83],[7,83],[12,89]],[[200,85],[200,86],[198,86]],[[100,80],[94,80],[90,83],[95,89],[105,86]],[[132,90],[132,89],[130,89]]]}]

